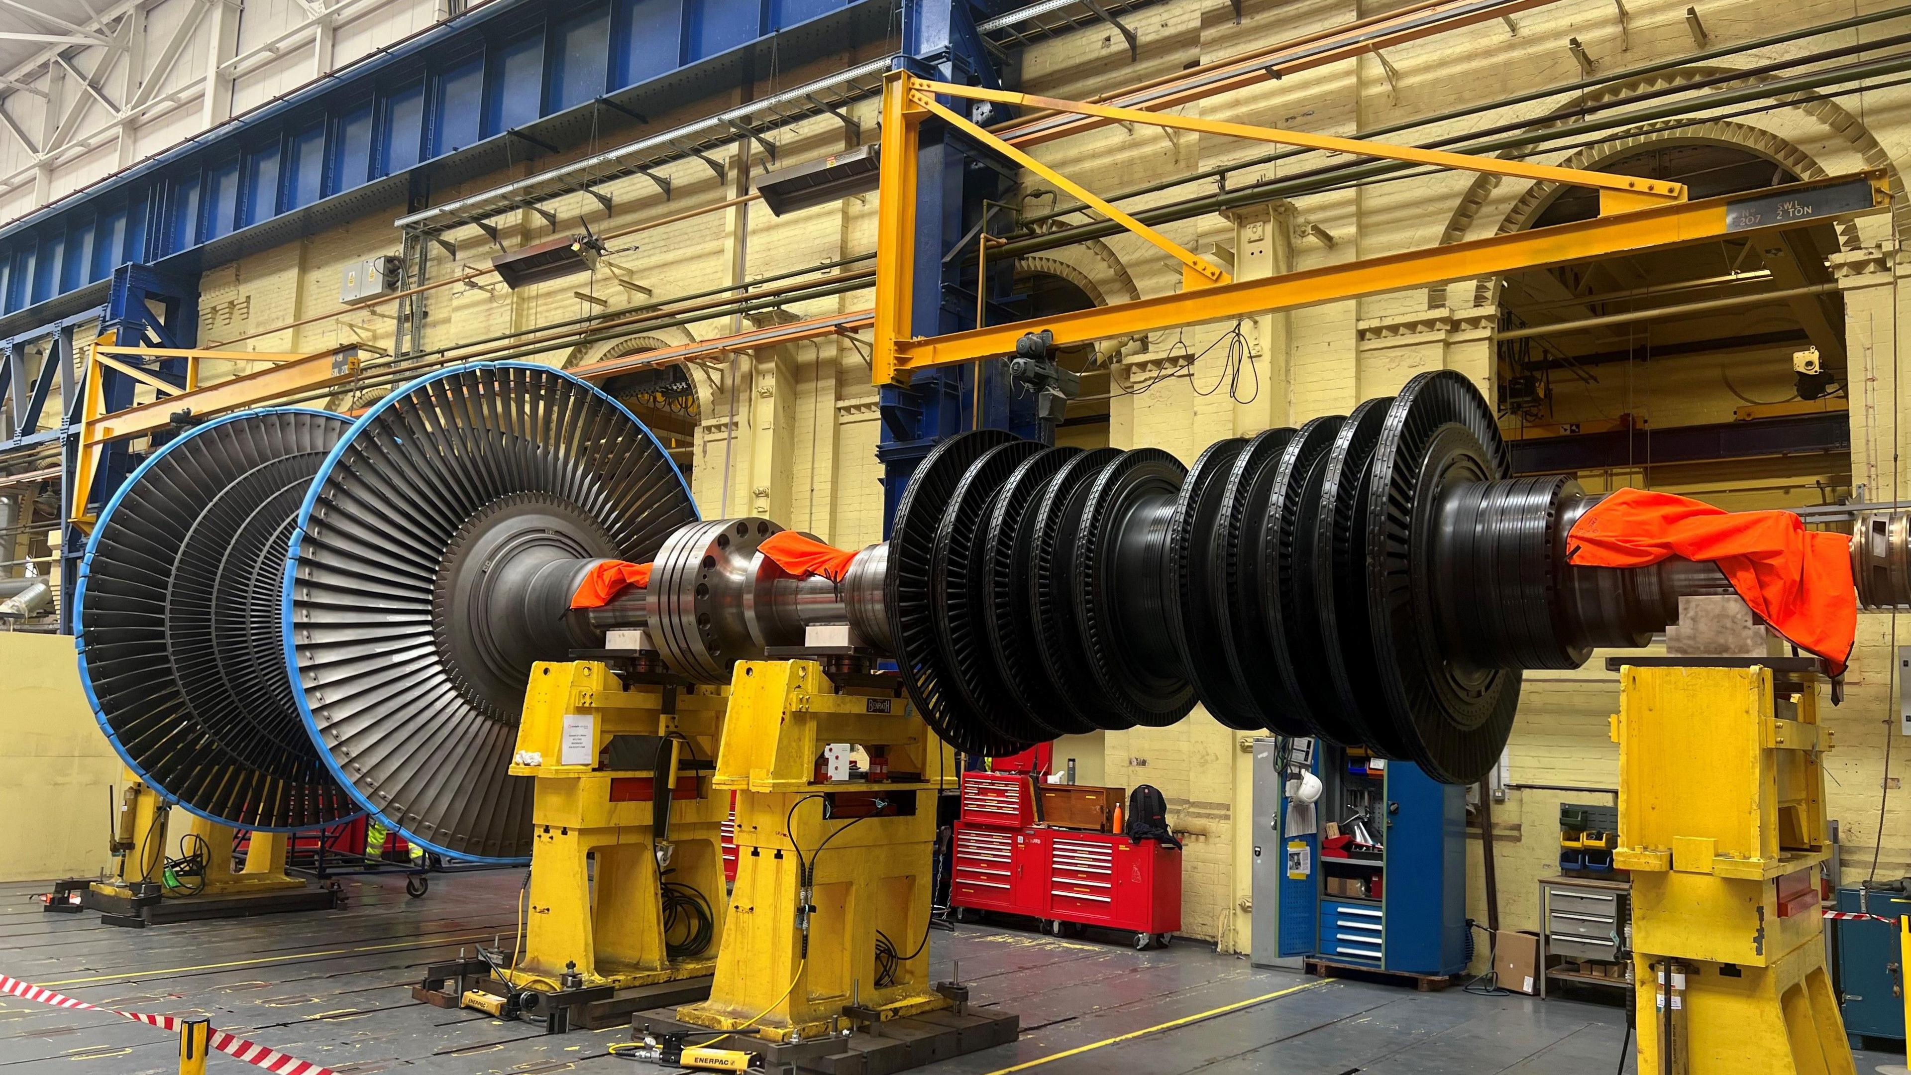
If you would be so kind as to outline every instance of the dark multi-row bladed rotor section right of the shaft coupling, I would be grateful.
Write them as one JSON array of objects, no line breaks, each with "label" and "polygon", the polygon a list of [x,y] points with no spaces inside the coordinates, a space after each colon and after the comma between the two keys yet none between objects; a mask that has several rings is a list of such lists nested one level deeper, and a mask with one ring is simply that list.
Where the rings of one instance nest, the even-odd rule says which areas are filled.
[{"label": "dark multi-row bladed rotor section right of the shaft coupling", "polygon": [[[1519,673],[1445,658],[1454,599],[1429,536],[1450,490],[1508,471],[1491,406],[1450,371],[1192,467],[963,434],[917,465],[892,522],[896,660],[973,754],[1170,725],[1200,702],[1233,729],[1477,779]],[[1521,549],[1544,549],[1542,507],[1504,509],[1542,513]]]}]

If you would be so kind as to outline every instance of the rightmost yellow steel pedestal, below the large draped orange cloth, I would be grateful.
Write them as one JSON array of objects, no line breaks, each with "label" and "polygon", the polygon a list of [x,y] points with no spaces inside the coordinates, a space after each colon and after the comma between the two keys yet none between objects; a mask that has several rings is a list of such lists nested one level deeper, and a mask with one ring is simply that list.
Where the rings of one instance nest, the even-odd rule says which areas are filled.
[{"label": "rightmost yellow steel pedestal, below the large draped orange cloth", "polygon": [[1852,1075],[1825,970],[1817,675],[1621,669],[1640,1075]]}]

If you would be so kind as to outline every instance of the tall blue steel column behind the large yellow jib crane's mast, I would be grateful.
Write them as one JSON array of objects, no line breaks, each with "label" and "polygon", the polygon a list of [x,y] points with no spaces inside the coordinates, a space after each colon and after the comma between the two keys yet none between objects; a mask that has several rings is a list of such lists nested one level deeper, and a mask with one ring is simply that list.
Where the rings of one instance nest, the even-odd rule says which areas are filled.
[{"label": "tall blue steel column behind the large yellow jib crane's mast", "polygon": [[[906,0],[902,6],[904,67],[925,78],[999,88],[1001,80],[982,46],[977,19],[992,15],[969,0]],[[957,101],[957,107],[969,107]],[[988,107],[988,105],[984,105]],[[978,117],[996,122],[1001,115]],[[973,249],[984,201],[999,201],[1013,189],[1013,174],[992,153],[956,138],[940,124],[923,124],[917,151],[913,335],[940,335],[975,327],[975,268],[969,256],[950,256],[957,247]],[[1003,216],[999,210],[996,216]],[[1009,220],[990,218],[992,230]],[[967,251],[961,251],[967,254]],[[990,302],[1007,296],[1013,272],[990,266]],[[1007,428],[1020,436],[1041,436],[1034,394],[1011,390],[1003,362],[990,362],[982,375],[982,421],[975,411],[975,369],[934,369],[917,373],[910,386],[881,392],[883,428],[875,457],[883,463],[883,536],[896,515],[902,490],[915,465],[942,438],[967,428]]]}]

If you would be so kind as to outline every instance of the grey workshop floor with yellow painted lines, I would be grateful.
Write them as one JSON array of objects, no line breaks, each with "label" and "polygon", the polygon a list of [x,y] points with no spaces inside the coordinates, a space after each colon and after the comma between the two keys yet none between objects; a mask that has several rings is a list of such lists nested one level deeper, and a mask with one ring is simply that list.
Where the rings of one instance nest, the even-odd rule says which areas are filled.
[{"label": "grey workshop floor with yellow painted lines", "polygon": [[[208,1016],[214,1027],[340,1073],[617,1071],[604,1046],[627,1033],[543,1037],[527,1023],[447,1012],[411,1000],[419,968],[461,945],[508,937],[522,872],[440,876],[419,901],[396,878],[348,880],[352,903],[331,914],[193,922],[145,932],[101,926],[96,914],[44,914],[27,903],[44,886],[0,886],[0,974],[92,1004]],[[1181,941],[1135,953],[1091,941],[961,926],[936,933],[934,976],[961,960],[980,1004],[1022,1018],[1011,1046],[938,1064],[942,1075],[1106,1071],[1235,1075],[1607,1075],[1619,1067],[1617,1008],[1531,997],[1475,997],[1322,981],[1254,970]],[[1284,989],[1294,993],[1196,1023],[1095,1046],[1120,1035]],[[147,1025],[0,997],[0,1071],[73,1075],[172,1073],[174,1042]],[[1861,1056],[1873,1071],[1884,1056]],[[210,1071],[256,1071],[214,1054]],[[634,1071],[654,1071],[650,1065]],[[1632,1069],[1630,1060],[1624,1065]]]}]

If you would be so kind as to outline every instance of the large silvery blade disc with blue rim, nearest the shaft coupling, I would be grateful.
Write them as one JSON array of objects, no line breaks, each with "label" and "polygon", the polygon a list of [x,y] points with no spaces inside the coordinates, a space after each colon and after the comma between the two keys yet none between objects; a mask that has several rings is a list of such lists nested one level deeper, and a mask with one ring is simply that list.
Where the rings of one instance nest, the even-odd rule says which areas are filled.
[{"label": "large silvery blade disc with blue rim, nearest the shaft coupling", "polygon": [[501,702],[461,666],[443,574],[501,507],[627,560],[696,520],[669,455],[610,396],[539,365],[455,367],[359,419],[313,482],[285,591],[294,692],[334,771],[386,821],[472,859],[531,849],[531,780],[508,775],[522,694]]}]

